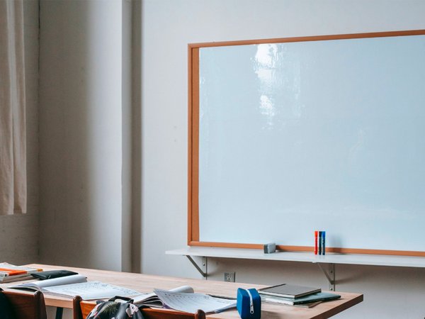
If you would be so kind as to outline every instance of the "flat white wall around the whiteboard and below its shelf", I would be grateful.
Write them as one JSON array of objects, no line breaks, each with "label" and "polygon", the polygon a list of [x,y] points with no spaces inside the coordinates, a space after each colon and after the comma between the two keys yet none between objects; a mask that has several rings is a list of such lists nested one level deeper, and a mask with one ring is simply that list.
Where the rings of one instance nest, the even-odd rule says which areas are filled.
[{"label": "flat white wall around the whiteboard and below its shelf", "polygon": [[[142,1],[142,271],[200,275],[165,250],[186,245],[187,44],[425,29],[421,0]],[[237,225],[235,225],[237,227]],[[211,279],[327,289],[313,264],[210,259]],[[424,318],[425,269],[336,266],[336,289],[365,293],[339,318]]]}]

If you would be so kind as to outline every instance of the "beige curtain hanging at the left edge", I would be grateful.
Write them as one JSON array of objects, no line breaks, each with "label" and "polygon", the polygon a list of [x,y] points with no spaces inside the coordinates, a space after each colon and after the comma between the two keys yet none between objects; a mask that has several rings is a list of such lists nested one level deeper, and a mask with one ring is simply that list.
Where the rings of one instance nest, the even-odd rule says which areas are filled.
[{"label": "beige curtain hanging at the left edge", "polygon": [[0,0],[0,215],[26,213],[23,0]]}]

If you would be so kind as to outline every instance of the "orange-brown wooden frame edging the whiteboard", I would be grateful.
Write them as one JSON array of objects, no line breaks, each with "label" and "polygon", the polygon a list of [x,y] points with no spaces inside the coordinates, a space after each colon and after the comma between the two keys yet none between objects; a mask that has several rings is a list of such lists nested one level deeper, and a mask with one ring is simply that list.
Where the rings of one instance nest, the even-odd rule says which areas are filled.
[{"label": "orange-brown wooden frame edging the whiteboard", "polygon": [[[188,245],[203,247],[234,247],[262,249],[262,244],[232,242],[201,242],[199,234],[199,49],[229,45],[258,45],[266,43],[292,43],[304,41],[343,40],[357,38],[382,38],[405,35],[425,35],[425,30],[403,30],[379,33],[353,33],[320,35],[297,38],[242,40],[215,43],[191,43],[188,45]],[[312,252],[310,246],[278,245],[278,250]],[[328,252],[351,254],[391,254],[425,257],[425,252],[409,250],[369,250],[346,247],[327,247]]]}]

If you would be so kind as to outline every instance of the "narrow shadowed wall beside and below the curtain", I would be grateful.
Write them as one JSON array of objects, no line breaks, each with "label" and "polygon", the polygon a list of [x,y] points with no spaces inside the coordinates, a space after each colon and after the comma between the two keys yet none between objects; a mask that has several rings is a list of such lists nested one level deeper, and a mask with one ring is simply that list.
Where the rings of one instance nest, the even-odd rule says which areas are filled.
[{"label": "narrow shadowed wall beside and below the curtain", "polygon": [[38,1],[23,1],[26,64],[27,213],[0,216],[0,259],[38,262]]}]

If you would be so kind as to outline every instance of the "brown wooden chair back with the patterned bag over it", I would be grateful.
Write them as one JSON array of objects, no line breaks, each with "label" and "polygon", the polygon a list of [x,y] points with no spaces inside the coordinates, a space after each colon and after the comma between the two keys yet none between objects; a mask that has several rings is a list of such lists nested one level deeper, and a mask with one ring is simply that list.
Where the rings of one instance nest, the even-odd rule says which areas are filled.
[{"label": "brown wooden chair back with the patterned bag over it", "polygon": [[[90,311],[96,306],[94,301],[82,301],[80,296],[72,300],[74,319],[86,319]],[[182,313],[175,310],[164,310],[158,308],[143,308],[142,314],[146,319],[205,319],[203,310],[197,313]]]}]

